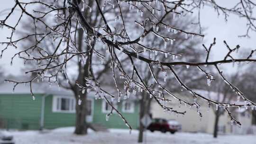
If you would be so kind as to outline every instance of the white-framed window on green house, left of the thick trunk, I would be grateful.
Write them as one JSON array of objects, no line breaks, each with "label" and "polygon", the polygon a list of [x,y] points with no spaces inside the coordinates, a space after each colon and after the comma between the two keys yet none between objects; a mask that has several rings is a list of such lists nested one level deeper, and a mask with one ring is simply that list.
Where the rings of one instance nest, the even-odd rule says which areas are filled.
[{"label": "white-framed window on green house, left of the thick trunk", "polygon": [[54,96],[53,112],[75,113],[75,102],[72,97]]}]

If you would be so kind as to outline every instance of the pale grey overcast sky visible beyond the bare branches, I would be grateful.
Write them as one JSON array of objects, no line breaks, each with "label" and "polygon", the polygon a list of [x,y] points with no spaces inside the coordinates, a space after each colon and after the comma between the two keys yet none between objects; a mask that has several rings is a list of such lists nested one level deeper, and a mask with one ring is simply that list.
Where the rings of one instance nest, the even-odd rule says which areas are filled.
[{"label": "pale grey overcast sky visible beyond the bare branches", "polygon": [[[221,2],[223,6],[229,6],[228,4],[237,1],[237,0],[216,0],[217,2]],[[4,9],[11,8],[14,4],[14,0],[5,0],[0,5],[0,11]],[[5,13],[5,12],[4,12]],[[6,13],[5,13],[6,14]],[[5,15],[0,14],[0,19],[3,19]],[[15,22],[18,18],[18,12],[14,17],[11,17],[8,21],[9,24]],[[217,13],[214,9],[210,9],[209,7],[205,7],[201,10],[201,25],[202,27],[207,27],[204,31],[206,34],[205,38],[201,42],[201,44],[210,45],[213,38],[217,38],[217,44],[212,49],[210,60],[219,60],[223,59],[224,55],[227,53],[227,48],[223,44],[223,40],[226,40],[227,43],[231,47],[235,47],[236,45],[240,45],[242,48],[256,49],[256,33],[251,32],[251,38],[238,38],[238,35],[245,34],[246,20],[242,18],[238,18],[237,16],[230,15],[228,18],[228,22],[226,23],[224,17],[222,15],[217,17]],[[5,41],[6,37],[9,36],[9,30],[7,28],[3,28],[0,30],[0,41]],[[0,50],[4,47],[0,45]],[[203,48],[203,47],[201,47]],[[19,59],[14,60],[12,66],[10,66],[10,59],[13,54],[17,53],[18,50],[14,48],[10,48],[4,52],[2,59],[0,59],[0,66],[5,70],[6,74],[20,74],[20,69],[24,67],[23,62]],[[238,53],[239,54],[239,53]],[[232,66],[225,66],[226,70],[232,72]]]}]

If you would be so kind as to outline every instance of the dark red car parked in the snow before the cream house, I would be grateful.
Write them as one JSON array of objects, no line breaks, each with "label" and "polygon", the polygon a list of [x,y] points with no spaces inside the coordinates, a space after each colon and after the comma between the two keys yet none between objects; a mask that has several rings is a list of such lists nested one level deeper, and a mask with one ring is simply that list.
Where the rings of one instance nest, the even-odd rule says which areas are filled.
[{"label": "dark red car parked in the snow before the cream house", "polygon": [[181,125],[176,120],[166,120],[164,118],[154,118],[152,123],[147,127],[151,132],[161,131],[162,133],[170,132],[174,134],[181,130]]}]

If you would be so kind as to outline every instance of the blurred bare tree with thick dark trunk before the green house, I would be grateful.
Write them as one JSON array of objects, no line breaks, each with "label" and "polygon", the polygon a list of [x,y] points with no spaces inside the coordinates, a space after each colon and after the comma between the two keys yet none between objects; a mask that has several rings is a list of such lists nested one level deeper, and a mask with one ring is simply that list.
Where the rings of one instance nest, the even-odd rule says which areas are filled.
[{"label": "blurred bare tree with thick dark trunk before the green house", "polygon": [[[43,1],[46,2],[46,0],[43,0]],[[95,5],[93,5],[93,0],[89,0],[88,2],[89,2],[88,4],[91,7],[95,7]],[[53,3],[54,2],[51,2],[50,4],[53,5]],[[57,4],[58,6],[60,6],[61,3],[57,2]],[[46,10],[46,8],[36,7],[34,10],[37,12],[38,16],[40,16],[41,11]],[[102,19],[99,18],[99,11],[92,11],[90,9],[85,9],[83,11],[83,16],[85,18],[88,18],[88,20],[90,19],[89,22],[93,25],[100,25],[102,23]],[[47,18],[49,18],[50,20],[47,20]],[[51,16],[45,17],[44,21],[51,22],[52,21]],[[57,23],[58,19],[55,19],[55,22]],[[37,27],[31,27],[30,25],[31,23],[33,23],[33,20],[29,18],[27,21],[22,21],[22,27],[23,29],[26,29],[26,31],[25,32],[19,31],[19,34],[21,36],[27,36],[33,33],[35,30],[37,30],[37,32],[44,33],[45,31],[44,25],[40,24]],[[84,35],[82,28],[78,27],[77,25],[78,25],[77,23],[74,23],[71,26],[75,30],[75,32],[72,32],[72,33],[76,33],[75,34],[76,36],[74,36],[74,39],[76,41],[75,43],[77,48],[76,50],[77,52],[87,51],[88,45],[83,44],[83,41],[86,40],[86,36]],[[42,35],[39,35],[37,36],[37,39],[42,37],[43,37]],[[45,47],[44,48],[45,53],[49,55],[54,54],[56,39],[57,37],[55,36],[45,39],[40,43],[40,45],[37,45],[37,48],[40,49],[40,47]],[[36,43],[37,43],[36,39],[34,39],[33,37],[28,37],[26,39],[26,42],[21,44],[21,48],[26,50],[27,47],[33,47]],[[65,45],[62,45],[62,47],[64,46]],[[95,46],[95,45],[91,45],[91,46]],[[27,53],[31,57],[41,57],[42,56],[41,52],[38,49],[32,50],[32,51],[36,50],[38,53],[32,53],[29,51],[27,51]],[[63,61],[64,59],[65,57],[56,58],[58,62]],[[49,66],[54,67],[54,65],[58,63],[57,61],[53,61],[54,63],[50,63]],[[33,63],[29,60],[24,61],[24,63],[26,63],[26,68],[24,68],[25,72],[27,70],[33,70],[37,68],[37,65],[39,64],[39,63]],[[43,65],[43,63],[40,63],[40,64]],[[100,69],[97,69],[97,71],[95,71],[95,74],[98,76],[99,79],[102,73],[108,71],[109,69],[108,63],[99,63],[98,61],[96,61],[91,64],[97,65],[97,67],[101,67]],[[89,59],[86,57],[75,56],[73,61],[71,61],[70,63],[66,63],[64,69],[67,70],[64,73],[58,73],[59,69],[51,69],[50,71],[48,71],[48,74],[46,74],[47,76],[45,76],[44,80],[42,81],[48,81],[49,84],[57,83],[57,85],[73,91],[75,99],[77,101],[74,133],[78,135],[86,134],[87,128],[88,128],[88,124],[86,123],[86,115],[88,111],[87,103],[86,103],[87,91],[80,90],[80,87],[76,83],[86,83],[86,80],[84,79],[84,77],[88,77]],[[37,76],[37,73],[35,75],[32,75],[32,77],[33,76]],[[49,80],[47,80],[48,78]]]}]

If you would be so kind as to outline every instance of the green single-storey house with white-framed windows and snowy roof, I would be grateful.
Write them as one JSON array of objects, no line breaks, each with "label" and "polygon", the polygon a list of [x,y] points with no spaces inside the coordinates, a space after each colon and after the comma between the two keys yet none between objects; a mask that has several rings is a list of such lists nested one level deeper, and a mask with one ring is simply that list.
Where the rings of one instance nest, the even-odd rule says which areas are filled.
[{"label": "green single-storey house with white-framed windows and snowy roof", "polygon": [[[0,84],[0,128],[8,129],[52,129],[75,125],[76,100],[70,90],[47,84],[33,84],[35,100],[30,88],[18,85],[12,92],[13,83]],[[107,128],[128,128],[118,114],[114,113],[106,121],[110,107],[103,99],[95,99],[94,93],[88,94],[87,122],[100,124]],[[117,102],[115,107],[137,129],[139,107],[134,99]]]}]

